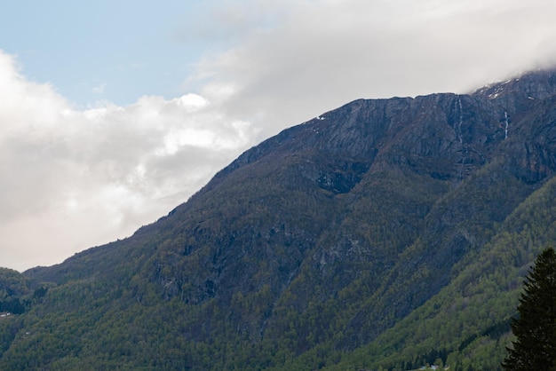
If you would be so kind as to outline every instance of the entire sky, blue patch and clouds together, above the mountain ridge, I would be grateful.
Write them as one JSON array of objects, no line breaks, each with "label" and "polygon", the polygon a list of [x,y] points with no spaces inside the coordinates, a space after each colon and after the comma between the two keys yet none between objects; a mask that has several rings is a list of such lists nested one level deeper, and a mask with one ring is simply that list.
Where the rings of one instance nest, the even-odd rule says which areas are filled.
[{"label": "entire sky, blue patch and clouds together, above the mountain ridge", "polygon": [[353,99],[556,62],[552,0],[20,0],[0,13],[0,266],[131,235]]}]

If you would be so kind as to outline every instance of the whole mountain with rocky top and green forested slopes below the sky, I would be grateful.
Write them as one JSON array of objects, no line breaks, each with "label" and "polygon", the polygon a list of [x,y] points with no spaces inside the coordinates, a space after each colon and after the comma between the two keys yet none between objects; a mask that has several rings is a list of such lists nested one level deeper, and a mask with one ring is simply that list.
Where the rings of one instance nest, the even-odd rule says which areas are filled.
[{"label": "whole mountain with rocky top and green forested slopes below the sky", "polygon": [[128,239],[6,271],[0,368],[499,368],[555,171],[555,71],[355,100]]}]

